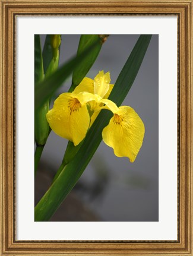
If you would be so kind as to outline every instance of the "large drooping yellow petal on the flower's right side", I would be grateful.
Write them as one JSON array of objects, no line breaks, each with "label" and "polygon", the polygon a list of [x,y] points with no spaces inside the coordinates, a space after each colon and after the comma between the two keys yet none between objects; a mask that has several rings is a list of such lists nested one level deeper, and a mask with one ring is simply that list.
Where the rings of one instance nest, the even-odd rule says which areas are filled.
[{"label": "large drooping yellow petal on the flower's right side", "polygon": [[103,129],[103,141],[112,147],[118,157],[128,157],[134,162],[143,144],[144,124],[134,109],[128,106],[119,108]]}]

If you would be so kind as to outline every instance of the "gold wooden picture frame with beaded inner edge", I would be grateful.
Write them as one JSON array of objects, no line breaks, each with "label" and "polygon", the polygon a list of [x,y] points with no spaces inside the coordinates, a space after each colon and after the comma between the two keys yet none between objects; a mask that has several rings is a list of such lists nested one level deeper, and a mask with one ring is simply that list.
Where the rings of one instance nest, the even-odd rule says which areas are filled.
[{"label": "gold wooden picture frame with beaded inner edge", "polygon": [[[0,255],[193,255],[193,0],[1,0]],[[178,16],[178,240],[17,241],[15,239],[15,16],[130,14]],[[166,230],[167,232],[167,230]]]}]

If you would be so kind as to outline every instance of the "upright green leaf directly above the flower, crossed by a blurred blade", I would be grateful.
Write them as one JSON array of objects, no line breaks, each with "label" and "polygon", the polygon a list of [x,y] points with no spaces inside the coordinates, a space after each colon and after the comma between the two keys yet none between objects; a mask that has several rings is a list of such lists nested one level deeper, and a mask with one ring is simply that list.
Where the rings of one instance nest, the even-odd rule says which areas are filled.
[{"label": "upright green leaf directly above the flower, crossed by a blurred blade", "polygon": [[[105,38],[107,35],[99,35],[99,34],[82,34],[80,37],[80,42],[78,45],[77,56],[81,55],[84,50],[91,46],[94,42],[97,43],[96,48],[84,58],[84,61],[81,65],[74,69],[72,74],[72,86],[69,89],[69,92],[74,91],[75,87],[80,84],[83,78],[86,76],[87,72],[90,70],[97,56],[99,55],[100,49],[102,48],[103,42],[105,42]],[[100,40],[99,40],[100,38]]]}]

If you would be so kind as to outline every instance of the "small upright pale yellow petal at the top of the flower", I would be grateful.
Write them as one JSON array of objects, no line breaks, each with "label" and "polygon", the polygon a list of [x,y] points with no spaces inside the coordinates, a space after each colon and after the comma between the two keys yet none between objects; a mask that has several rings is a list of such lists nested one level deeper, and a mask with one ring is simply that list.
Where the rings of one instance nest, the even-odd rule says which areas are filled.
[{"label": "small upright pale yellow petal at the top of the flower", "polygon": [[94,94],[104,97],[109,91],[110,73],[104,74],[104,71],[99,71],[99,74],[94,77]]}]

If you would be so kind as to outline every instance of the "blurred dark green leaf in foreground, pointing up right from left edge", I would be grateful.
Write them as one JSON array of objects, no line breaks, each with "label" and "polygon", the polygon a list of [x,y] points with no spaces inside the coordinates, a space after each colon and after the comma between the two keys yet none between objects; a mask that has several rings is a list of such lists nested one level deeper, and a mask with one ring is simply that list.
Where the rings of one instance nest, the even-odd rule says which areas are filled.
[{"label": "blurred dark green leaf in foreground, pointing up right from left edge", "polygon": [[87,55],[97,47],[98,40],[86,48],[80,55],[72,58],[67,64],[64,64],[61,68],[58,68],[53,72],[53,74],[49,75],[49,77],[46,77],[41,83],[35,85],[35,110],[39,109],[40,106],[53,95],[53,93],[69,77],[74,68],[83,65]]}]

